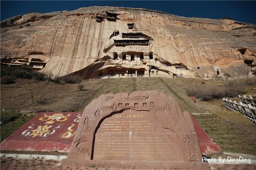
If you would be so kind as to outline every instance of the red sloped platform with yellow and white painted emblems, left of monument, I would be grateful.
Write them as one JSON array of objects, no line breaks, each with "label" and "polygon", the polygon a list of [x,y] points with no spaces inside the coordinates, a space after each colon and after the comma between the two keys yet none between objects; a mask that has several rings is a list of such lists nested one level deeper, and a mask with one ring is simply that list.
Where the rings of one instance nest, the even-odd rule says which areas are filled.
[{"label": "red sloped platform with yellow and white painted emblems, left of monument", "polygon": [[81,112],[40,112],[1,143],[1,150],[68,152]]}]

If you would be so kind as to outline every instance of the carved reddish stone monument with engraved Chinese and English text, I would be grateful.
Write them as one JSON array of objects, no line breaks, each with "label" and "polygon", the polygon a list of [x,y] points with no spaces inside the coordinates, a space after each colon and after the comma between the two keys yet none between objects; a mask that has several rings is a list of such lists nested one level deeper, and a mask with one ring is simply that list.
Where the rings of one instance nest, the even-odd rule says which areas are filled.
[{"label": "carved reddish stone monument with engraved Chinese and English text", "polygon": [[101,95],[83,112],[64,166],[208,169],[190,113],[158,91]]}]

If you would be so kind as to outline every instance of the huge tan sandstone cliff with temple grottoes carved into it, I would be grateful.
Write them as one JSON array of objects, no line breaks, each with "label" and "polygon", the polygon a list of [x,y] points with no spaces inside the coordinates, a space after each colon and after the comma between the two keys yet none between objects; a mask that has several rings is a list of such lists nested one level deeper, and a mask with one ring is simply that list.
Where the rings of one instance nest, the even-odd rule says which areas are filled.
[{"label": "huge tan sandstone cliff with temple grottoes carved into it", "polygon": [[233,77],[256,64],[256,26],[233,20],[94,6],[15,16],[1,27],[1,58],[40,59],[53,76]]}]

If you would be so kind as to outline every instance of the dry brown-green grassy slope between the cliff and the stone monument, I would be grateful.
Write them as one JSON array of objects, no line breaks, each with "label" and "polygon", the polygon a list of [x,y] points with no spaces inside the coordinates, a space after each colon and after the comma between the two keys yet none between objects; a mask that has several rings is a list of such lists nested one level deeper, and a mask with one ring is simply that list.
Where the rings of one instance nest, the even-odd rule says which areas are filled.
[{"label": "dry brown-green grassy slope between the cliff and the stone monument", "polygon": [[[77,84],[55,84],[48,81],[18,79],[12,85],[1,85],[1,107],[10,111],[83,111],[93,99],[106,93],[132,93],[133,91],[158,90],[176,99],[182,111],[190,113],[212,113],[197,115],[194,118],[206,130],[211,138],[225,152],[238,152],[256,155],[256,126],[238,112],[224,108],[221,99],[210,102],[186,95],[186,89],[201,85],[198,79],[170,79],[159,77],[108,79],[83,82],[84,90]],[[205,85],[218,85],[222,81],[206,81]],[[254,94],[252,87],[247,87],[246,95]],[[237,99],[236,99],[237,100]],[[238,101],[238,100],[237,100]],[[2,132],[2,126],[1,126]]]}]

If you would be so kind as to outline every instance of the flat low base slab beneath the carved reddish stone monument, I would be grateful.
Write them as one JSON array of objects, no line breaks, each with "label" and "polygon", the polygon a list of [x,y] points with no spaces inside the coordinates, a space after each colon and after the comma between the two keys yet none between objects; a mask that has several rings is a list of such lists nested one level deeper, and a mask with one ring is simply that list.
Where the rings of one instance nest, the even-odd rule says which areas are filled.
[{"label": "flat low base slab beneath the carved reddish stone monument", "polygon": [[206,162],[173,162],[173,161],[122,161],[122,160],[79,160],[62,159],[62,166],[102,166],[110,168],[136,168],[136,169],[194,169],[207,170]]}]

